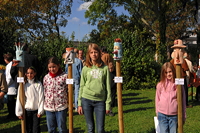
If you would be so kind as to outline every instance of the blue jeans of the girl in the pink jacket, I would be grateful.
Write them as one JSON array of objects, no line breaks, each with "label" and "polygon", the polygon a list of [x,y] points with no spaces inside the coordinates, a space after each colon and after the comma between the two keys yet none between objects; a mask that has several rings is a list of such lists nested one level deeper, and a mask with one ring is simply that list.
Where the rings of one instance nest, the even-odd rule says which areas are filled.
[{"label": "blue jeans of the girl in the pink jacket", "polygon": [[176,133],[177,115],[165,115],[158,112],[158,121],[161,133]]}]

